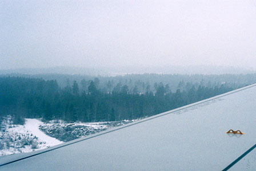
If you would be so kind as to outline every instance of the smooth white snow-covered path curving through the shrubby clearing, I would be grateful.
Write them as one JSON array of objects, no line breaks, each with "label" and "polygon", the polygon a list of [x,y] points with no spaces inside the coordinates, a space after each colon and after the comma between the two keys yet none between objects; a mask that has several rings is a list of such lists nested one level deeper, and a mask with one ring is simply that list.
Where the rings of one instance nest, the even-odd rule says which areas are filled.
[{"label": "smooth white snow-covered path curving through the shrubby clearing", "polygon": [[54,146],[63,143],[62,141],[59,141],[53,137],[50,137],[43,133],[38,127],[39,125],[42,125],[42,121],[39,121],[37,119],[25,119],[25,129],[33,135],[37,136],[39,140],[44,141],[47,146]]}]

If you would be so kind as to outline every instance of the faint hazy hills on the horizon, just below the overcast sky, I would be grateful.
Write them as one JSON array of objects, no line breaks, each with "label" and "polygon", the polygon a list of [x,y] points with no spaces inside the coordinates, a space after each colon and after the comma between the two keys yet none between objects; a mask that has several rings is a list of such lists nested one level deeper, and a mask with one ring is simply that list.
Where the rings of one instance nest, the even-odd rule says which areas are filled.
[{"label": "faint hazy hills on the horizon, just below the overcast sky", "polygon": [[69,74],[90,76],[115,76],[125,74],[254,74],[250,68],[223,67],[223,66],[118,66],[118,67],[50,67],[50,68],[15,68],[0,70],[0,74]]}]

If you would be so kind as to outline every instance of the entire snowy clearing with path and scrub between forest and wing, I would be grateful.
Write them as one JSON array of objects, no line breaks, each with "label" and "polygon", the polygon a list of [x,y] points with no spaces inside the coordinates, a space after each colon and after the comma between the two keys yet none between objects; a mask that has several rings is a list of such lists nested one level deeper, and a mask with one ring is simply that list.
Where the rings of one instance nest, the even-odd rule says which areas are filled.
[{"label": "entire snowy clearing with path and scrub between forest and wing", "polygon": [[0,157],[45,149],[93,133],[105,131],[136,120],[98,123],[43,123],[38,119],[25,119],[25,125],[12,124],[6,117],[0,129]]}]

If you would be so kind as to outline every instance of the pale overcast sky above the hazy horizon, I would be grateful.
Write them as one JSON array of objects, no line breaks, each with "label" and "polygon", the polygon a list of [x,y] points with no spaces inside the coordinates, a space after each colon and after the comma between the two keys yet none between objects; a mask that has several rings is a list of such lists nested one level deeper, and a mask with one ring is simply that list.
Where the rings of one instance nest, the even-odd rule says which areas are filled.
[{"label": "pale overcast sky above the hazy horizon", "polygon": [[0,67],[256,68],[256,1],[0,1]]}]

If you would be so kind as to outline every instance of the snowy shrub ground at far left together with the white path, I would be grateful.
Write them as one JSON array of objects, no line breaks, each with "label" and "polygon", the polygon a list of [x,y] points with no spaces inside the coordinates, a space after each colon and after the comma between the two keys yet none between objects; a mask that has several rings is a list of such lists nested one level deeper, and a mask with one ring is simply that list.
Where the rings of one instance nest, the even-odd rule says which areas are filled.
[{"label": "snowy shrub ground at far left together with the white path", "polygon": [[32,152],[63,143],[40,131],[38,127],[43,123],[37,119],[26,119],[25,125],[13,125],[7,117],[2,124],[5,128],[0,131],[0,156]]}]

